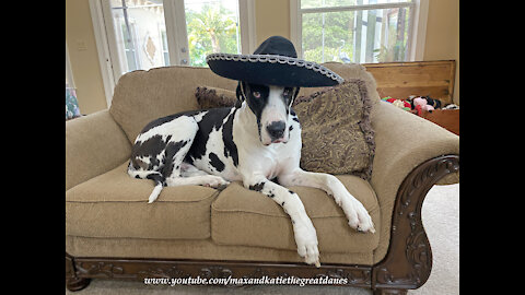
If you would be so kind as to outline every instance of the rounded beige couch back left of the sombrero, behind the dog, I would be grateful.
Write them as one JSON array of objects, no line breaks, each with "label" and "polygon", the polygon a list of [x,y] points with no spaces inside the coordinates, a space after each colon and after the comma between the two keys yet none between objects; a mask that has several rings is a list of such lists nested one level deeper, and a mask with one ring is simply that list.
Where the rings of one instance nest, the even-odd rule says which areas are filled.
[{"label": "rounded beige couch back left of the sombrero, behind the dog", "polygon": [[195,91],[202,85],[235,91],[236,81],[219,76],[209,68],[174,66],[129,72],[115,86],[109,113],[133,143],[150,121],[198,109]]}]

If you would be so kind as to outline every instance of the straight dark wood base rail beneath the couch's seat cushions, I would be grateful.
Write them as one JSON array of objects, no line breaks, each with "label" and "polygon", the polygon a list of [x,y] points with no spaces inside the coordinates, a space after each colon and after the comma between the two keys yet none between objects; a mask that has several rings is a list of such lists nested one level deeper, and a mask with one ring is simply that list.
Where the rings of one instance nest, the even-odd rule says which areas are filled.
[{"label": "straight dark wood base rail beneath the couch's seat cushions", "polygon": [[145,278],[332,278],[348,279],[354,286],[370,287],[370,266],[322,266],[315,268],[296,263],[219,260],[163,260],[75,258],[75,275],[89,279],[125,279],[143,281]]}]

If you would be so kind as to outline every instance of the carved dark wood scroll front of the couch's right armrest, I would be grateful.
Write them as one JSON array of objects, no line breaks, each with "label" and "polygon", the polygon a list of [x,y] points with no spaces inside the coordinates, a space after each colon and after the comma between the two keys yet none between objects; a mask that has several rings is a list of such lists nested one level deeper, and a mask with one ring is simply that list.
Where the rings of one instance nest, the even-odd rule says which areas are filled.
[{"label": "carved dark wood scroll front of the couch's right armrest", "polygon": [[442,177],[459,172],[458,155],[443,155],[416,167],[402,181],[392,216],[385,258],[373,267],[374,294],[406,294],[430,276],[432,250],[421,221],[427,192]]}]

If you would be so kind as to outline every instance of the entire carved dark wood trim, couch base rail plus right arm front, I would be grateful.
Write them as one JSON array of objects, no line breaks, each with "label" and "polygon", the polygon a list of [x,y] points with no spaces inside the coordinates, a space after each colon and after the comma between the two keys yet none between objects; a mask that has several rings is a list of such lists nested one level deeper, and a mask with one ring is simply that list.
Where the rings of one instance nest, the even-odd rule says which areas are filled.
[{"label": "entire carved dark wood trim, couch base rail plus right arm front", "polygon": [[375,266],[261,261],[171,260],[145,258],[84,258],[66,253],[66,285],[70,291],[88,286],[91,279],[143,281],[144,278],[332,278],[348,279],[346,286],[372,288],[374,294],[407,294],[429,279],[432,251],[421,222],[428,191],[442,177],[459,170],[458,155],[443,155],[416,167],[396,197],[390,243]]}]

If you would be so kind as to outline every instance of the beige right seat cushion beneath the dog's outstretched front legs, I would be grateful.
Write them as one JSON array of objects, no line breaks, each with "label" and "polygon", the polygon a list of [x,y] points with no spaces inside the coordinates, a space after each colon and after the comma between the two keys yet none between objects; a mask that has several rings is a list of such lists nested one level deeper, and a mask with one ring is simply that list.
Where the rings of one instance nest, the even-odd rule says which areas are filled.
[{"label": "beige right seat cushion beneath the dog's outstretched front legs", "polygon": [[[304,203],[317,231],[319,251],[371,252],[378,244],[380,210],[375,192],[365,180],[350,175],[337,176],[372,216],[375,234],[350,228],[343,211],[320,189],[290,187]],[[262,193],[232,182],[211,205],[211,238],[222,245],[296,249],[293,228],[281,206]]]}]

